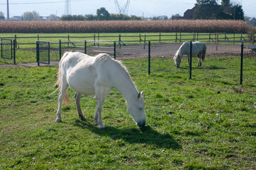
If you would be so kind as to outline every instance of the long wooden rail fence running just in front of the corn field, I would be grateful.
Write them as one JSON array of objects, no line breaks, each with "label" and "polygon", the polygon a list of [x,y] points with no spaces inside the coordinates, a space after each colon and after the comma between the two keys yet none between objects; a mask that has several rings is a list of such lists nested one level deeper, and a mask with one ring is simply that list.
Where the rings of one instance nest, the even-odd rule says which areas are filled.
[{"label": "long wooden rail fence running just in front of the corn field", "polygon": [[[116,41],[118,44],[125,45],[126,42],[140,42],[145,43],[149,40],[151,42],[184,42],[184,41],[203,41],[203,42],[214,42],[214,43],[240,43],[241,41],[245,42],[246,44],[254,45],[255,41],[255,33],[139,33],[138,35],[106,35],[106,33],[98,33],[90,36],[30,36],[30,37],[21,37],[14,35],[13,37],[2,37],[7,39],[14,39],[17,42],[17,45],[35,45],[35,40],[45,40],[49,38],[53,38],[57,40],[65,39],[65,40],[72,40],[75,41],[77,39],[83,39],[88,41],[93,41],[94,45],[96,42],[103,41],[103,40],[111,40]],[[22,39],[31,39],[28,42],[22,42]],[[21,40],[21,42],[19,41]]]}]

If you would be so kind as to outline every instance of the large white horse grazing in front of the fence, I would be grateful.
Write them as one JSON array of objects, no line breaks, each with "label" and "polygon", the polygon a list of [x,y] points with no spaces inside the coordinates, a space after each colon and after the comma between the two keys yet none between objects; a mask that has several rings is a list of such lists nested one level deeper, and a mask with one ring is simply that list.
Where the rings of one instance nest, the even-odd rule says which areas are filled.
[{"label": "large white horse grazing in front of the fence", "polygon": [[138,92],[126,68],[109,55],[99,54],[91,57],[81,52],[65,52],[60,60],[56,84],[60,89],[56,122],[61,122],[62,100],[69,101],[67,88],[70,86],[76,91],[74,99],[79,118],[82,120],[86,119],[80,107],[81,95],[95,94],[97,107],[94,122],[100,129],[104,128],[101,120],[102,105],[111,89],[115,88],[126,98],[128,113],[135,123],[140,127],[145,125],[144,91]]}]

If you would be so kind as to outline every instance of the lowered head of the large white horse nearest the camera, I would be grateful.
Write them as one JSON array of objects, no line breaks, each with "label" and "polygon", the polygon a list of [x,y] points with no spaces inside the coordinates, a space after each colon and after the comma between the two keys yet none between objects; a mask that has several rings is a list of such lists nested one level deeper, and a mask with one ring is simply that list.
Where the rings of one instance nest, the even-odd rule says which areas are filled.
[{"label": "lowered head of the large white horse nearest the camera", "polygon": [[146,116],[145,116],[145,102],[143,99],[144,91],[138,93],[137,96],[134,96],[133,100],[128,103],[127,111],[133,117],[136,125],[139,127],[145,126]]}]

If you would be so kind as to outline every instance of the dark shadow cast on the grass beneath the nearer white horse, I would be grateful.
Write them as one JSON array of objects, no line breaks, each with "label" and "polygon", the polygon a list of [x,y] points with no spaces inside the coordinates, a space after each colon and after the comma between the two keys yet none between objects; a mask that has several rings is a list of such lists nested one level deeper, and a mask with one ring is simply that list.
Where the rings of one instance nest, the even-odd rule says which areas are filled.
[{"label": "dark shadow cast on the grass beneath the nearer white horse", "polygon": [[108,126],[104,128],[104,130],[99,130],[97,126],[82,120],[76,120],[73,125],[82,129],[91,130],[91,132],[94,132],[97,135],[111,137],[113,140],[124,140],[131,144],[139,143],[165,149],[182,149],[182,145],[179,145],[172,135],[160,134],[160,132],[153,130],[150,126],[128,129],[119,129]]}]

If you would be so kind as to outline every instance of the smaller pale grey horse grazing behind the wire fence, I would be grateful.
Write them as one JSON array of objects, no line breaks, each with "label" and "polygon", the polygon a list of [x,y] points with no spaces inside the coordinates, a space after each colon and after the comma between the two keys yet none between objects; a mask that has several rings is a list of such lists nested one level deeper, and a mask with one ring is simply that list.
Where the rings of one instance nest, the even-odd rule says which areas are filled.
[{"label": "smaller pale grey horse grazing behind the wire fence", "polygon": [[[179,64],[182,62],[183,55],[187,55],[189,60],[190,42],[184,42],[174,55],[174,62],[177,68],[179,68]],[[197,63],[197,66],[201,66],[201,60],[204,62],[204,57],[206,56],[206,45],[204,44],[204,42],[192,42],[192,56],[196,55],[197,57],[199,57],[199,62]]]}]

